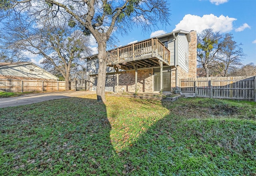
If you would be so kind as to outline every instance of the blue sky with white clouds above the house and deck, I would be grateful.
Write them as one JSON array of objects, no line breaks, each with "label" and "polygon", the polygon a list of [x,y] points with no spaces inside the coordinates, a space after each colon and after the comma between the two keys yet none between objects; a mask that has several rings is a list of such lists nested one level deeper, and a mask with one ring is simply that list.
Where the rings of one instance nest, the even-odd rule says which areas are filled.
[{"label": "blue sky with white clouds above the house and deck", "polygon": [[[232,33],[234,41],[242,43],[247,55],[242,63],[256,64],[256,0],[167,0],[170,3],[170,25],[141,33],[134,28],[128,35],[118,35],[117,46],[127,45],[175,30],[202,31],[213,28],[214,31]],[[97,45],[91,40],[96,53]],[[29,55],[29,54],[28,54]],[[32,58],[32,56],[30,55]],[[32,62],[39,64],[41,58],[34,57]]]}]

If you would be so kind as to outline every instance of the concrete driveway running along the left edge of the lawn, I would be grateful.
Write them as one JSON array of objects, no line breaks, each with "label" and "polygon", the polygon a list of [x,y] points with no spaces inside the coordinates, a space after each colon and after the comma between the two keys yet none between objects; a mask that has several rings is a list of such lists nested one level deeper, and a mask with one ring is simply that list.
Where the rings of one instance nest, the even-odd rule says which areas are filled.
[{"label": "concrete driveway running along the left edge of the lawn", "polygon": [[0,108],[6,108],[10,106],[20,106],[25,104],[32,104],[38,102],[44,102],[47,100],[54,100],[60,98],[79,97],[86,94],[95,94],[96,92],[86,91],[64,91],[64,92],[47,92],[38,94],[28,94],[18,97],[0,98]]}]

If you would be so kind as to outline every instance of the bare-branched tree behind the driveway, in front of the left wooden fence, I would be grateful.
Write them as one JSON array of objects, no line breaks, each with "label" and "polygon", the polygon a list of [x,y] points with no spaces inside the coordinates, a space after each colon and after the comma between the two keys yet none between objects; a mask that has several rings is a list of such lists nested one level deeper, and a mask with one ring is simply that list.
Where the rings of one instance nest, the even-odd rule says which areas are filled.
[{"label": "bare-branched tree behind the driveway, in front of the left wooden fence", "polygon": [[80,30],[54,22],[31,27],[30,23],[18,20],[5,26],[1,30],[2,43],[9,49],[42,56],[44,68],[52,73],[58,70],[65,79],[66,90],[69,90],[72,64],[84,62],[82,58],[90,55],[88,37]]}]

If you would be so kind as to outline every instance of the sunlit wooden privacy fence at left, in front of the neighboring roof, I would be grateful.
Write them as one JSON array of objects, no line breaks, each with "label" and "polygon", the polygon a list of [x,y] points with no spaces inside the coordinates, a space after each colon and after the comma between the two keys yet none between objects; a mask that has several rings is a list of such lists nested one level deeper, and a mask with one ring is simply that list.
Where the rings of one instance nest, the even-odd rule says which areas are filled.
[{"label": "sunlit wooden privacy fence at left, in front of the neighboring roof", "polygon": [[65,81],[0,80],[0,91],[34,92],[65,90]]}]

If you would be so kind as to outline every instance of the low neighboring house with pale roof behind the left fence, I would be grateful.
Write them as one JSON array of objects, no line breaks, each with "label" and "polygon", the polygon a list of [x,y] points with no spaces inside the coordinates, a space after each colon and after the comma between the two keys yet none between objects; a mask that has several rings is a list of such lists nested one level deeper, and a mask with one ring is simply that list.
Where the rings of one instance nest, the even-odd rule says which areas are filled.
[{"label": "low neighboring house with pale roof behind the left fence", "polygon": [[58,77],[32,62],[20,62],[0,63],[0,79],[58,80]]}]

